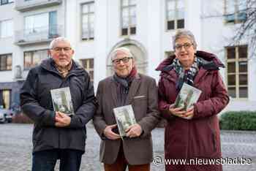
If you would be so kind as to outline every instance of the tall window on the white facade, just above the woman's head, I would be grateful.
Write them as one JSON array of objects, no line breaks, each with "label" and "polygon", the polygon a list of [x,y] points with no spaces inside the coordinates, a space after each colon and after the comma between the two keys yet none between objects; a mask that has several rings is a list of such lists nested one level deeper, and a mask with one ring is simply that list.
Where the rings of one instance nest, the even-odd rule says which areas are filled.
[{"label": "tall window on the white facade, just above the woman's head", "polygon": [[184,28],[184,0],[167,0],[166,18],[167,30]]}]

